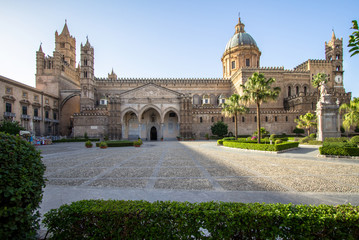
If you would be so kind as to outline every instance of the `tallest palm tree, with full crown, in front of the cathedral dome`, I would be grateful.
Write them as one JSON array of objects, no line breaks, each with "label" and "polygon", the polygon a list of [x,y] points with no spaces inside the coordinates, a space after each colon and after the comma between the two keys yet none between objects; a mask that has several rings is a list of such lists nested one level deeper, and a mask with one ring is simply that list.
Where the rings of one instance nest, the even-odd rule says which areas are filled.
[{"label": "tallest palm tree, with full crown, in front of the cathedral dome", "polygon": [[279,87],[274,87],[273,89],[271,88],[271,85],[274,82],[274,78],[269,78],[267,80],[262,73],[255,72],[250,78],[248,78],[244,85],[241,85],[243,89],[242,100],[247,103],[255,103],[257,106],[258,143],[260,143],[261,140],[260,106],[268,100],[277,99],[280,92]]}]

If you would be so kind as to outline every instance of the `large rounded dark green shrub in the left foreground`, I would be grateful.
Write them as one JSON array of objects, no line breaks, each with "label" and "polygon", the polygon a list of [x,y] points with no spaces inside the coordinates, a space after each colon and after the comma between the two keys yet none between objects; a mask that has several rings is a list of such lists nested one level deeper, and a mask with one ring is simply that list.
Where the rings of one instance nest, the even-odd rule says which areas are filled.
[{"label": "large rounded dark green shrub in the left foreground", "polygon": [[0,132],[0,239],[34,239],[45,187],[40,151]]}]

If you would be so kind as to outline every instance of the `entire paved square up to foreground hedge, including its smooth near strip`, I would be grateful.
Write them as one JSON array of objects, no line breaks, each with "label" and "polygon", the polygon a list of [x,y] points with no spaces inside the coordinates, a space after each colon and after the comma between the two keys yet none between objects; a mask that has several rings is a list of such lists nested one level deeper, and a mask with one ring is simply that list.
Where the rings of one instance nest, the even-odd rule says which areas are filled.
[{"label": "entire paved square up to foreground hedge, including its smooth near strip", "polygon": [[215,141],[39,146],[47,166],[40,212],[81,199],[359,205],[359,161],[318,158],[318,147],[250,152]]}]

